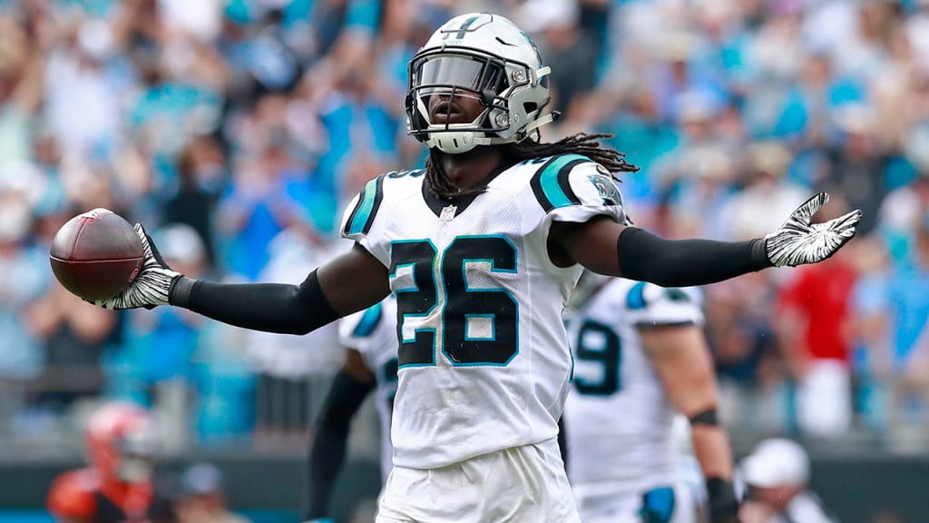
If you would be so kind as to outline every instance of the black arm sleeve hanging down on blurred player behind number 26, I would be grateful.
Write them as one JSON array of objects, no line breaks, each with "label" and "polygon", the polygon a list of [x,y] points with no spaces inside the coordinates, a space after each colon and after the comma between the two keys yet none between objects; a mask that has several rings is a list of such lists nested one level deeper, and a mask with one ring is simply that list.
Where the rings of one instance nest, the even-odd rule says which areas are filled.
[{"label": "black arm sleeve hanging down on blurred player behind number 26", "polygon": [[305,520],[331,516],[329,501],[345,463],[348,427],[373,388],[374,383],[361,382],[345,370],[335,375],[309,449]]}]

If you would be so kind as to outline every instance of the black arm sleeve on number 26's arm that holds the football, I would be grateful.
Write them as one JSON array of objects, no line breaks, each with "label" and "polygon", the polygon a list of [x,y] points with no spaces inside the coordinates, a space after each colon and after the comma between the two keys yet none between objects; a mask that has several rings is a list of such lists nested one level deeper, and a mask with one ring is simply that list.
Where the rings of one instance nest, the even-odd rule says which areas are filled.
[{"label": "black arm sleeve on number 26's arm that holds the football", "polygon": [[339,315],[322,293],[316,271],[299,286],[275,283],[218,284],[181,277],[172,305],[244,329],[306,334]]}]

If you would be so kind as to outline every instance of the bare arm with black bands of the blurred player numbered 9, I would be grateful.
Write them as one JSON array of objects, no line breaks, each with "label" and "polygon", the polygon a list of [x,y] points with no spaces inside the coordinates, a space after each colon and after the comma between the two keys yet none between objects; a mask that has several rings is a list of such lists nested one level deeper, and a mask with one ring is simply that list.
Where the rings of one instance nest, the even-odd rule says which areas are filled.
[{"label": "bare arm with black bands of the blurred player numbered 9", "polygon": [[671,403],[690,420],[694,454],[706,478],[711,523],[737,523],[732,448],[716,421],[716,376],[700,327],[639,328],[639,335]]}]

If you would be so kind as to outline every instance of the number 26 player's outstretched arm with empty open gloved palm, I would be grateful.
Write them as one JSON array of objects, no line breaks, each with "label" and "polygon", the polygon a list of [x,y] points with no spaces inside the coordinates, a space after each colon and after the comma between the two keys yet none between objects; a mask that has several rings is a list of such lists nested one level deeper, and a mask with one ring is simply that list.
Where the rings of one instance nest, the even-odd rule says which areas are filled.
[{"label": "number 26 player's outstretched arm with empty open gloved palm", "polygon": [[583,223],[556,221],[549,235],[553,262],[578,262],[601,275],[624,276],[663,287],[716,283],[766,267],[822,262],[855,235],[861,211],[811,223],[829,200],[819,193],[793,211],[779,230],[745,242],[665,240],[608,217]]}]

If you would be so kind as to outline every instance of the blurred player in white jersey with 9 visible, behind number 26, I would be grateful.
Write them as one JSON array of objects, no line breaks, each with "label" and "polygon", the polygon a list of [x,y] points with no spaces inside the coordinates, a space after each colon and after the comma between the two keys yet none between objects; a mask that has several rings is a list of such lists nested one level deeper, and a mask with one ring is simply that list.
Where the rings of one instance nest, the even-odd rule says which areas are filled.
[{"label": "blurred player in white jersey with 9 visible, behind number 26", "polygon": [[679,475],[674,421],[683,413],[707,478],[710,521],[737,522],[699,291],[585,273],[575,292],[585,296],[569,320],[575,363],[565,432],[582,520],[697,520],[695,496]]}]

